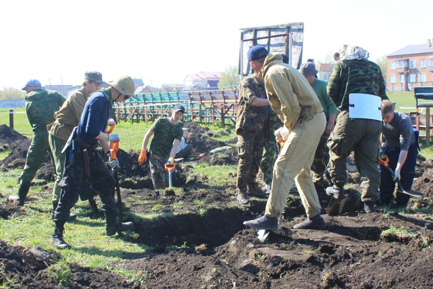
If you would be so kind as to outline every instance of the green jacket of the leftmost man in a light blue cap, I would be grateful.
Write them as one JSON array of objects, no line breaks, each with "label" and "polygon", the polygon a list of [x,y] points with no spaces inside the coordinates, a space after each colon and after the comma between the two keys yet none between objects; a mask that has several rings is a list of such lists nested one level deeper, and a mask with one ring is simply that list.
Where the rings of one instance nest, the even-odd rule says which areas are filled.
[{"label": "green jacket of the leftmost man in a light blue cap", "polygon": [[32,125],[33,132],[39,129],[46,131],[47,124],[55,120],[57,112],[65,98],[57,91],[37,89],[25,96],[25,113]]}]

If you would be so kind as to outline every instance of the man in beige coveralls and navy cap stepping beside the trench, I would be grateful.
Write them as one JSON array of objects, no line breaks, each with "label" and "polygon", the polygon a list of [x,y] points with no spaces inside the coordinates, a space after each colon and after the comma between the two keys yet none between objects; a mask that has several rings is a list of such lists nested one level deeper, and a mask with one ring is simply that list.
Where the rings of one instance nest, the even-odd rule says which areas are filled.
[{"label": "man in beige coveralls and navy cap stepping beside the trench", "polygon": [[[260,52],[263,49],[253,46],[250,51]],[[266,58],[250,62],[254,70],[260,71],[258,76],[265,82],[270,106],[284,123],[289,135],[274,166],[272,190],[264,216],[243,224],[259,230],[277,230],[278,217],[284,211],[294,179],[308,219],[293,228],[323,229],[326,224],[320,216],[321,207],[310,168],[326,126],[326,117],[305,77],[282,60],[281,55],[269,53]]]}]

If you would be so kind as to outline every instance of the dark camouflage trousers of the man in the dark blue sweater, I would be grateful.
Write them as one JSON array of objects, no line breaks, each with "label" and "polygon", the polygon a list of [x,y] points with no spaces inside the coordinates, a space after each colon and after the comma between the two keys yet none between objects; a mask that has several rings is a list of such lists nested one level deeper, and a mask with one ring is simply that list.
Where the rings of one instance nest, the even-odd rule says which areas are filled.
[{"label": "dark camouflage trousers of the man in the dark blue sweater", "polygon": [[105,214],[116,212],[114,198],[116,182],[106,163],[98,151],[89,150],[90,176],[87,176],[84,169],[83,148],[78,144],[76,146],[72,160],[69,160],[69,154],[66,153],[65,171],[59,183],[62,191],[54,221],[66,222],[69,219],[70,209],[78,201],[80,192],[87,186],[87,181],[97,189],[101,198],[101,210]]}]

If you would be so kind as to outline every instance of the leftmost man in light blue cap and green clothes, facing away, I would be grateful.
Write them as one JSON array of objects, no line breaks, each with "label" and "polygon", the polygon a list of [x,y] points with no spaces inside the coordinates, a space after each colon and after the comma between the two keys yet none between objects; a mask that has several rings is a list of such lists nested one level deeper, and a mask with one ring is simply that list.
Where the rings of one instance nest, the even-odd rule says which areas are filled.
[{"label": "leftmost man in light blue cap and green clothes, facing away", "polygon": [[[33,139],[27,152],[25,166],[22,170],[18,193],[9,196],[9,201],[16,201],[24,205],[25,197],[29,193],[30,183],[39,170],[46,153],[52,154],[48,143],[47,124],[54,121],[54,113],[60,109],[66,100],[57,91],[45,90],[38,80],[31,79],[22,88],[27,92],[25,96],[25,113],[32,125]],[[54,164],[54,162],[52,162]]]}]

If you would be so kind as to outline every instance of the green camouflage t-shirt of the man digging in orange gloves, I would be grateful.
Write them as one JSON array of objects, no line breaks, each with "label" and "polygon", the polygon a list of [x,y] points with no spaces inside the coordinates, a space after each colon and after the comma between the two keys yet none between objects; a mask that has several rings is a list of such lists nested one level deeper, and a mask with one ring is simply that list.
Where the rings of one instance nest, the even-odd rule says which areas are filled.
[{"label": "green camouflage t-shirt of the man digging in orange gloves", "polygon": [[182,140],[183,129],[179,123],[172,124],[166,117],[160,117],[150,127],[155,134],[149,151],[160,157],[169,157],[174,140]]}]

